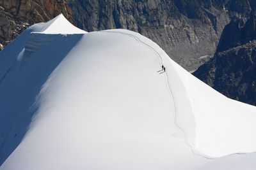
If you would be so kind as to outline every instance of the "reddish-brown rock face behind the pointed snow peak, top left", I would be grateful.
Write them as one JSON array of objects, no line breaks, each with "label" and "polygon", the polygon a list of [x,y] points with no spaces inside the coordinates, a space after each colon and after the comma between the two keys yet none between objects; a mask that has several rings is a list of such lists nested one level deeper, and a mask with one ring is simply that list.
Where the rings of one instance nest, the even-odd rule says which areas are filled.
[{"label": "reddish-brown rock face behind the pointed snow peak, top left", "polygon": [[71,10],[63,0],[0,0],[0,43],[7,45],[29,25],[60,13],[72,22]]}]

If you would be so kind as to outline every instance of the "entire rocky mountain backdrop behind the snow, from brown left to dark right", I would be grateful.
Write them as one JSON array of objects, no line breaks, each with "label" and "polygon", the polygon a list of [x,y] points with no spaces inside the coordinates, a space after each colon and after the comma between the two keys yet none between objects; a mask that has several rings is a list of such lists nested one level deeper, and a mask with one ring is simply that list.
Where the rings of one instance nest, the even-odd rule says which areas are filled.
[{"label": "entire rocky mountain backdrop behind the snow, from brown left to dark right", "polygon": [[0,43],[8,45],[29,25],[63,13],[86,31],[140,32],[188,71],[206,62],[195,76],[232,99],[256,105],[255,4],[252,0],[0,0]]}]

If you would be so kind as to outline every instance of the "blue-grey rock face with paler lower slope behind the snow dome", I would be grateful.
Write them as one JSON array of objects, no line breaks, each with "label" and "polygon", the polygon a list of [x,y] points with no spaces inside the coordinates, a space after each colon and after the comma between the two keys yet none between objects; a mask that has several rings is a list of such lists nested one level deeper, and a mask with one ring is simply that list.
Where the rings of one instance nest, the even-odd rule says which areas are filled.
[{"label": "blue-grey rock face with paler lower slope behind the snow dome", "polygon": [[188,71],[214,55],[230,18],[246,18],[251,10],[248,0],[72,0],[68,4],[77,27],[140,32]]}]

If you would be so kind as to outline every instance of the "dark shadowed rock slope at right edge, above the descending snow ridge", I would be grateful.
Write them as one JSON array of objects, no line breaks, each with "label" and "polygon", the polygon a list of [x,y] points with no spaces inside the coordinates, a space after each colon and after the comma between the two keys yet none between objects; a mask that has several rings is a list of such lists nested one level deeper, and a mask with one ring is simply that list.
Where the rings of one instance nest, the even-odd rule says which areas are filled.
[{"label": "dark shadowed rock slope at right edge, above the descending snow ridge", "polygon": [[225,96],[256,105],[256,8],[228,24],[214,57],[193,73]]}]

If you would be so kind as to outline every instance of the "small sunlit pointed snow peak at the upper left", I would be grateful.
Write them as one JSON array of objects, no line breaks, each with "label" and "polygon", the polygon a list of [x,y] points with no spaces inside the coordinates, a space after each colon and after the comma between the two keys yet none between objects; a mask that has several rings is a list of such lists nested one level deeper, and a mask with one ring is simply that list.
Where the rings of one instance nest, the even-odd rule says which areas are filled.
[{"label": "small sunlit pointed snow peak at the upper left", "polygon": [[86,31],[83,31],[74,25],[72,25],[61,13],[57,17],[53,18],[49,22],[46,22],[42,30],[40,31],[43,34],[84,34]]}]

